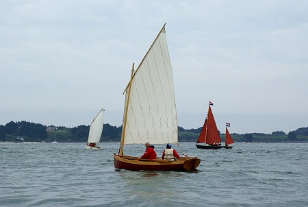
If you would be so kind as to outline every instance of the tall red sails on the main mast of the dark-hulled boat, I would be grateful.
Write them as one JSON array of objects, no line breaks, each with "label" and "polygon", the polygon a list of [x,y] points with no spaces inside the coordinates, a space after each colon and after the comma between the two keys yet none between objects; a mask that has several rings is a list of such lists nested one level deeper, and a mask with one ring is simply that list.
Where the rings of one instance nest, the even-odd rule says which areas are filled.
[{"label": "tall red sails on the main mast of the dark-hulled boat", "polygon": [[211,112],[211,106],[209,106],[207,119],[205,119],[205,123],[201,130],[197,143],[207,143],[208,145],[213,145],[214,143],[221,143],[214,115],[213,112]]}]

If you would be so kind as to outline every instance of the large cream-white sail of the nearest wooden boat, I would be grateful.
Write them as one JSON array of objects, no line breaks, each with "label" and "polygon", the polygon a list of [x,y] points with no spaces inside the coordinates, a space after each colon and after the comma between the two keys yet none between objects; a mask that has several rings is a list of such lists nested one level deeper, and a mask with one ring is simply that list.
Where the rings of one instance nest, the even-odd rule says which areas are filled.
[{"label": "large cream-white sail of the nearest wooden boat", "polygon": [[124,144],[177,143],[175,90],[165,27],[138,66],[130,87],[129,102],[125,101]]}]

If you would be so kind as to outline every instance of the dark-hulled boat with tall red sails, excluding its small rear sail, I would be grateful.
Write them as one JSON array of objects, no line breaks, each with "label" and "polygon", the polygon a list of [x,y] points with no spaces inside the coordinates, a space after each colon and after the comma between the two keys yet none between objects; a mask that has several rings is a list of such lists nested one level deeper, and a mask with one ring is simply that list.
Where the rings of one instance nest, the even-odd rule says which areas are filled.
[{"label": "dark-hulled boat with tall red sails, excluding its small rear sail", "polygon": [[198,140],[196,141],[196,147],[202,149],[230,148],[227,145],[226,146],[221,145],[221,139],[219,136],[213,112],[211,111],[211,106],[213,106],[213,103],[209,101],[209,110],[207,112],[207,118],[205,119],[205,123],[201,130],[201,133],[198,137]]}]

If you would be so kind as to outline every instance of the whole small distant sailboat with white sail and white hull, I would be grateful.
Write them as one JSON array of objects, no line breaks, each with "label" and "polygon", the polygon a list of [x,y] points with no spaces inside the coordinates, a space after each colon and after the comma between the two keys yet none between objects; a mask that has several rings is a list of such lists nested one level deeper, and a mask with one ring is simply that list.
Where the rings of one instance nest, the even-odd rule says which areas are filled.
[{"label": "whole small distant sailboat with white sail and white hull", "polygon": [[90,125],[90,131],[88,136],[88,143],[84,146],[84,149],[101,149],[99,147],[99,141],[101,140],[101,134],[103,132],[104,112],[102,108],[97,114]]}]

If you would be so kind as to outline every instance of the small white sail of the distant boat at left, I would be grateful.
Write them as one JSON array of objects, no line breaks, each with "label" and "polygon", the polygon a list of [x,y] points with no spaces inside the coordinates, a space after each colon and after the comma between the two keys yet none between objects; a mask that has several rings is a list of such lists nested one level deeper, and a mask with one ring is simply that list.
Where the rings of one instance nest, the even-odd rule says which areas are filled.
[{"label": "small white sail of the distant boat at left", "polygon": [[103,132],[104,114],[103,108],[97,114],[90,125],[88,143],[99,143],[101,139],[101,133]]}]

